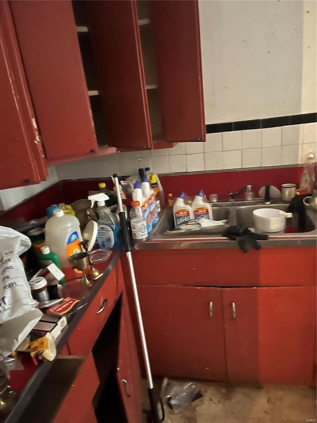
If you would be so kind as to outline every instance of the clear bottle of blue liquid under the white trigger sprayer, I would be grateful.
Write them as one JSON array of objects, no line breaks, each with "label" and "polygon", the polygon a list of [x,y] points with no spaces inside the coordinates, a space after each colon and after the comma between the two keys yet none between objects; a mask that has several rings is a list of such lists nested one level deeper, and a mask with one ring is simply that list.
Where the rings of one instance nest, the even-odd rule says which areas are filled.
[{"label": "clear bottle of blue liquid under the white trigger sprayer", "polygon": [[[102,193],[101,193],[102,194]],[[100,195],[100,194],[99,194]],[[106,195],[106,194],[103,194]],[[120,230],[105,201],[97,202],[98,233],[97,242],[100,248],[115,250],[120,247]]]}]

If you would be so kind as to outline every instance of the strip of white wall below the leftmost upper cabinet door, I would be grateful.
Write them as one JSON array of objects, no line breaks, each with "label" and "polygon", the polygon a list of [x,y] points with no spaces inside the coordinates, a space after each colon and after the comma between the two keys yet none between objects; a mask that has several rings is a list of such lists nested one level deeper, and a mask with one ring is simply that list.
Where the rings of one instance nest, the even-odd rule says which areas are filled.
[{"label": "strip of white wall below the leftmost upper cabinet door", "polygon": [[19,204],[25,199],[32,197],[32,195],[43,191],[53,183],[58,181],[58,176],[55,168],[52,166],[48,168],[49,177],[47,181],[37,183],[35,185],[19,186],[11,189],[0,190],[0,210],[7,210],[10,207]]}]

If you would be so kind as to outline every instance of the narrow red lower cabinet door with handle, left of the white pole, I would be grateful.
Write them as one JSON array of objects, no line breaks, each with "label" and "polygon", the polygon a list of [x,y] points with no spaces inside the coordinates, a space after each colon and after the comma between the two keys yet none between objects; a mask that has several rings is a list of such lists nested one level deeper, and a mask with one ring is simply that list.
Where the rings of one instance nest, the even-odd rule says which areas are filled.
[{"label": "narrow red lower cabinet door with handle, left of the white pole", "polygon": [[[124,308],[121,309],[119,350],[117,364],[117,381],[124,405],[127,423],[140,421],[140,415],[137,418],[137,404],[135,403],[134,385],[131,361],[129,355],[129,342],[127,337],[126,316]],[[140,405],[140,404],[139,404]]]}]

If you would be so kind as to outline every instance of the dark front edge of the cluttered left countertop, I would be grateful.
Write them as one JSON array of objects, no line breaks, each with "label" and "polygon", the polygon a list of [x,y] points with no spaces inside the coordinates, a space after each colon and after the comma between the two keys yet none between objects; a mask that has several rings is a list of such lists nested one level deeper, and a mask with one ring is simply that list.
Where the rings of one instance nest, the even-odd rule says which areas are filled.
[{"label": "dark front edge of the cluttered left countertop", "polygon": [[[78,311],[76,311],[76,313],[74,313],[72,318],[69,320],[69,323],[67,324],[66,328],[62,330],[60,336],[57,338],[57,343],[56,343],[57,356],[58,356],[58,353],[64,347],[64,345],[67,343],[69,337],[71,336],[72,332],[74,331],[74,329],[78,325],[80,319],[83,317],[85,311],[87,310],[87,308],[89,307],[91,302],[96,297],[96,295],[97,295],[98,291],[100,290],[101,286],[105,283],[105,281],[106,281],[107,277],[109,276],[109,274],[111,273],[112,269],[117,264],[117,262],[120,258],[120,254],[121,254],[120,250],[114,251],[114,252],[112,252],[111,256],[109,257],[109,259],[105,263],[101,263],[98,266],[96,266],[96,267],[99,268],[99,270],[103,271],[104,275],[101,278],[97,279],[97,281],[94,282],[92,287],[89,288],[89,294],[88,294],[87,298],[84,300],[85,305],[83,307],[81,307]],[[104,265],[104,267],[103,267],[103,265]],[[15,423],[15,422],[17,422],[17,420],[19,418],[21,418],[23,411],[26,409],[27,405],[29,404],[30,400],[32,399],[33,394],[38,389],[41,382],[44,380],[45,376],[48,374],[48,372],[49,372],[50,368],[52,367],[53,363],[54,363],[54,361],[53,362],[43,362],[43,363],[40,363],[36,367],[35,371],[31,375],[31,377],[28,379],[24,388],[19,393],[20,396],[19,396],[18,402],[16,403],[14,409],[7,416],[0,418],[0,422]],[[19,374],[18,374],[19,372],[20,371],[14,372],[14,373],[16,373],[14,375],[14,378],[19,377]],[[21,372],[23,372],[23,370],[21,370]],[[12,386],[14,387],[13,383],[12,383]]]}]

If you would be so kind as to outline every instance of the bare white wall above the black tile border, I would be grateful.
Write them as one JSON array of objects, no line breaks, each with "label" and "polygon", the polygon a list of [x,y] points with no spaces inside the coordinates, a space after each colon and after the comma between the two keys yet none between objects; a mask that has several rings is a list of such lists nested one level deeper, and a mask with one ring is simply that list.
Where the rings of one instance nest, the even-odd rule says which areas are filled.
[{"label": "bare white wall above the black tile border", "polygon": [[316,112],[316,1],[200,0],[206,123]]}]

